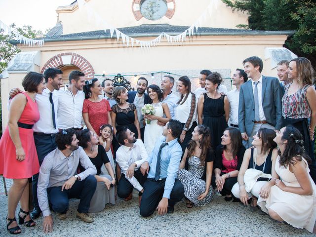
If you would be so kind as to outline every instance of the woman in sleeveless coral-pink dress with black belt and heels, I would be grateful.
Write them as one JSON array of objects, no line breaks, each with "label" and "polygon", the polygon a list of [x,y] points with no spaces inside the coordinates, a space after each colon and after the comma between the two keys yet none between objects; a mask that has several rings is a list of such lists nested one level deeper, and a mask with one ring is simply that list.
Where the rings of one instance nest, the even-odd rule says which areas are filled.
[{"label": "woman in sleeveless coral-pink dress with black belt and heels", "polygon": [[0,174],[13,179],[8,192],[7,230],[10,234],[20,234],[16,223],[15,209],[20,201],[19,224],[35,226],[29,214],[29,178],[39,173],[33,125],[40,119],[35,96],[45,87],[42,74],[29,72],[22,81],[26,92],[16,95],[10,104],[9,121],[0,140]]}]

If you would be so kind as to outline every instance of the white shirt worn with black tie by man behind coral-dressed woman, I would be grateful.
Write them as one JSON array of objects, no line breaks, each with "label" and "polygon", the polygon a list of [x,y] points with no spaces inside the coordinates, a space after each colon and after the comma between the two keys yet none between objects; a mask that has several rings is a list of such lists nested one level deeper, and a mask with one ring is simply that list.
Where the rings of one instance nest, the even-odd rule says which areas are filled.
[{"label": "white shirt worn with black tie by man behind coral-dressed woman", "polygon": [[57,90],[53,90],[53,102],[55,111],[56,128],[53,125],[51,103],[49,101],[50,90],[48,88],[43,90],[42,94],[37,94],[35,97],[38,103],[40,120],[38,120],[33,127],[35,132],[43,132],[47,134],[58,132],[57,111],[58,111],[58,95]]}]

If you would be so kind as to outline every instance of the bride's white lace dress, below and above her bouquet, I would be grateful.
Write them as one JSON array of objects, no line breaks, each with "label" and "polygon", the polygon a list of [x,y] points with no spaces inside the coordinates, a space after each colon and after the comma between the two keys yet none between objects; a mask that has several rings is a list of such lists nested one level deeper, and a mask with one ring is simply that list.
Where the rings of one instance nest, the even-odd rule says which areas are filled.
[{"label": "bride's white lace dress, below and above her bouquet", "polygon": [[[158,102],[156,104],[152,104],[155,107],[155,116],[163,117],[163,109],[162,109],[162,103]],[[162,135],[162,126],[159,126],[157,124],[158,120],[152,120],[151,124],[146,124],[145,126],[145,132],[144,132],[144,145],[146,148],[146,151],[148,155],[152,153],[155,147],[155,143]]]}]

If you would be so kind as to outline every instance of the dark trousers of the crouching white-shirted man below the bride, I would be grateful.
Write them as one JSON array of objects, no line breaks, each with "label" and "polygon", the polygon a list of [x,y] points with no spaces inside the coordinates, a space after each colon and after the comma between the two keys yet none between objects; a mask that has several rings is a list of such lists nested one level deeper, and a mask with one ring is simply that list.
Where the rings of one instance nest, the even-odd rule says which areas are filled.
[{"label": "dark trousers of the crouching white-shirted man below the bride", "polygon": [[[144,183],[147,179],[147,174],[143,175],[140,172],[140,169],[134,171],[134,177],[140,183],[141,186],[144,187]],[[118,197],[125,198],[133,191],[133,185],[125,178],[124,174],[121,174],[120,179],[118,181]],[[141,192],[139,192],[139,196],[141,196]]]}]

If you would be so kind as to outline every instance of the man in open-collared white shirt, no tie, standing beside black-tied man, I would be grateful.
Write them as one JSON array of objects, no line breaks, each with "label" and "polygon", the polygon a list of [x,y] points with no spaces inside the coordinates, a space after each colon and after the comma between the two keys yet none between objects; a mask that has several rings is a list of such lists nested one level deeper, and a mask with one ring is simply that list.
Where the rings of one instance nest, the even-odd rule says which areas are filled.
[{"label": "man in open-collared white shirt, no tie, standing beside black-tied man", "polygon": [[59,129],[82,129],[83,86],[84,73],[72,71],[69,74],[69,85],[65,85],[58,91],[57,124]]}]

